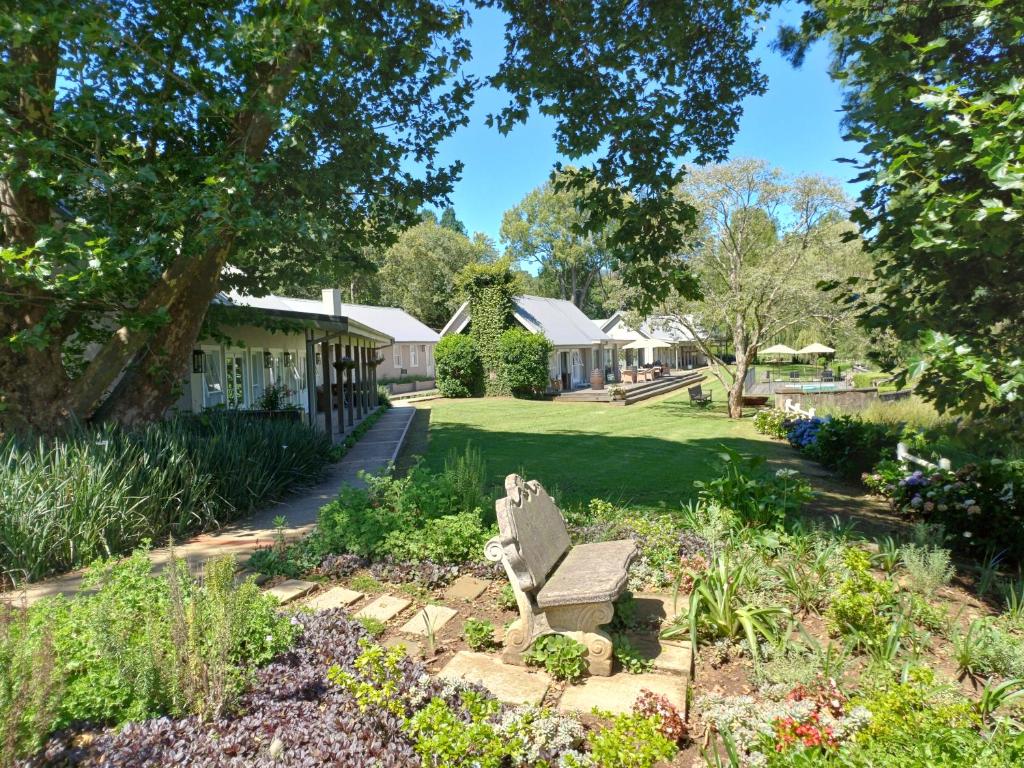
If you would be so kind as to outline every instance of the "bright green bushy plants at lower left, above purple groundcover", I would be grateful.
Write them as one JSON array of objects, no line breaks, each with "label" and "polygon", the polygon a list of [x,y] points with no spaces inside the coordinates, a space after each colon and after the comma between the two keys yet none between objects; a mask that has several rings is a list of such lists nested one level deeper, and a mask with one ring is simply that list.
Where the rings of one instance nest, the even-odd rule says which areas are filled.
[{"label": "bright green bushy plants at lower left, above purple groundcover", "polygon": [[[295,637],[272,597],[251,580],[234,585],[232,558],[208,563],[199,582],[181,561],[166,574],[152,568],[143,551],[100,561],[83,581],[86,592],[37,603],[0,634],[0,659],[13,662],[0,667],[0,743],[24,752],[79,721],[218,717],[253,669]],[[29,722],[34,731],[24,730]]]}]

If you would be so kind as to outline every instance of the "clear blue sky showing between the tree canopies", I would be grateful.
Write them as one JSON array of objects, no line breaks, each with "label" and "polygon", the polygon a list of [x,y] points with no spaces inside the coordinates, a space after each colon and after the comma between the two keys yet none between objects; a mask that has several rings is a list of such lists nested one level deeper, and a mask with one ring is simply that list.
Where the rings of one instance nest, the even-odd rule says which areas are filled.
[{"label": "clear blue sky showing between the tree canopies", "polygon": [[[795,70],[768,47],[781,18],[796,18],[796,13],[780,11],[766,26],[757,55],[768,76],[768,91],[744,101],[731,157],[762,158],[788,173],[820,173],[847,181],[853,168],[835,159],[852,156],[856,146],[841,138],[840,89],[827,75],[827,48],[816,45]],[[504,45],[502,14],[474,11],[469,37],[469,71],[481,78],[495,72]],[[534,116],[507,136],[488,128],[484,118],[504,103],[497,91],[481,89],[469,125],[444,141],[439,157],[441,163],[462,160],[465,165],[452,194],[459,218],[470,232],[484,232],[496,242],[502,214],[544,183],[560,159],[550,118]],[[847,187],[851,197],[856,194],[854,186]]]}]

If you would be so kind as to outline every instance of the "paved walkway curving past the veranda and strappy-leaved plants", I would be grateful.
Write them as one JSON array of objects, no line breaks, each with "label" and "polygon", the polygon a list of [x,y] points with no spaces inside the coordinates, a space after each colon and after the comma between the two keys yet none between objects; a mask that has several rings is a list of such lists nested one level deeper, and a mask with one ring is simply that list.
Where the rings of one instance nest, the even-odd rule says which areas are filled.
[{"label": "paved walkway curving past the veranda and strappy-leaved plants", "polygon": [[[273,520],[279,515],[287,521],[286,538],[291,540],[305,536],[316,523],[319,508],[337,497],[342,485],[360,485],[360,471],[376,472],[395,460],[415,413],[416,409],[409,406],[390,409],[338,464],[328,467],[327,475],[319,484],[293,494],[286,500],[271,504],[219,530],[201,534],[178,544],[174,547],[174,554],[185,558],[194,568],[214,557],[227,554],[245,562],[257,547],[266,546],[273,540]],[[158,568],[163,567],[169,558],[170,550],[167,548],[155,549],[151,554],[151,559]],[[24,600],[27,604],[32,604],[49,595],[74,594],[81,581],[82,571],[76,570],[30,584],[17,592],[5,593],[0,595],[0,599],[16,602]]]}]

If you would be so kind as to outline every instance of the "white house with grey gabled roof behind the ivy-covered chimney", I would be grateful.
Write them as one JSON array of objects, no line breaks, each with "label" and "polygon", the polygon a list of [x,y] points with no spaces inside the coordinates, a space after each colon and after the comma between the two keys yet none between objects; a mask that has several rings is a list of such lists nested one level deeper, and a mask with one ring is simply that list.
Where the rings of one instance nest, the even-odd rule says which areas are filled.
[{"label": "white house with grey gabled roof behind the ivy-covered chimney", "polygon": [[[594,369],[603,371],[607,381],[618,381],[618,348],[625,342],[598,328],[575,304],[541,296],[516,296],[514,301],[516,322],[531,333],[544,334],[554,346],[548,360],[552,389],[590,386]],[[464,333],[471,323],[465,302],[441,329],[441,337]]]}]

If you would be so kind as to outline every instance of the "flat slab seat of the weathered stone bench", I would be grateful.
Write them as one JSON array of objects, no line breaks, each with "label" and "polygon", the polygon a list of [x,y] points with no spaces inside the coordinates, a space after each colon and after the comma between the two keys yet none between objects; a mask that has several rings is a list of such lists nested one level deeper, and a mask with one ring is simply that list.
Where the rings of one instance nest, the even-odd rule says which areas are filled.
[{"label": "flat slab seat of the weathered stone bench", "polygon": [[537,593],[537,604],[549,608],[614,600],[626,589],[627,569],[636,556],[631,539],[577,545]]}]

